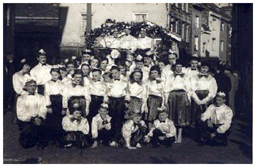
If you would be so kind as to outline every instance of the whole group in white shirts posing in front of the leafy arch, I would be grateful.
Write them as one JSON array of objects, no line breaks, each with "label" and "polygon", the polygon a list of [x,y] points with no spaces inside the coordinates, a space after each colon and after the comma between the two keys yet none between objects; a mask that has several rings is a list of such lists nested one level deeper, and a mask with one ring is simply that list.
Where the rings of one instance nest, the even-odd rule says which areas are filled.
[{"label": "whole group in white shirts posing in front of the leafy arch", "polygon": [[85,50],[80,62],[49,65],[40,49],[35,67],[22,60],[13,75],[20,145],[170,147],[193,126],[198,145],[227,146],[233,112],[209,64],[192,57],[186,68],[176,53],[166,57],[168,65],[150,50],[100,60]]}]

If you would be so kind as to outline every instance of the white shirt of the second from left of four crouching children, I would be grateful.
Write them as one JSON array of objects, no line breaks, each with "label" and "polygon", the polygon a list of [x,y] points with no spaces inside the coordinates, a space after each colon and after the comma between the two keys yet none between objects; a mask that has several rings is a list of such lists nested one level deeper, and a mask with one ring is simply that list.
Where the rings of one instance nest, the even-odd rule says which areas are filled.
[{"label": "white shirt of the second from left of four crouching children", "polygon": [[98,137],[98,131],[102,130],[105,128],[106,130],[111,129],[111,117],[107,115],[107,124],[102,125],[103,119],[101,118],[100,114],[97,114],[92,121],[92,138],[97,138]]}]

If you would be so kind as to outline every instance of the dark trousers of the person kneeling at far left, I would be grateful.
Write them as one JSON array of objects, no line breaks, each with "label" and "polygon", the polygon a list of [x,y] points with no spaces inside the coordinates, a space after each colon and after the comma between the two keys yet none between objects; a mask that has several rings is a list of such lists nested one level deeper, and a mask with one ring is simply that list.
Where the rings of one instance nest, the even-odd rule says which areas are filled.
[{"label": "dark trousers of the person kneeling at far left", "polygon": [[45,122],[42,122],[40,126],[36,126],[31,122],[17,120],[17,124],[21,131],[19,143],[23,148],[31,148],[36,144],[47,146],[48,135]]}]

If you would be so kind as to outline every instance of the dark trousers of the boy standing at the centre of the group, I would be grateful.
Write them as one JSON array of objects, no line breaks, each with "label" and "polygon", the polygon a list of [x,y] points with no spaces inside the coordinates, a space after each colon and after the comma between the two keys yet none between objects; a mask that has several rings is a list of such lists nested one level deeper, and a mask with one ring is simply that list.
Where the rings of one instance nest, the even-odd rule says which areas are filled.
[{"label": "dark trousers of the boy standing at the centre of the group", "polygon": [[112,140],[120,139],[121,128],[124,122],[124,97],[114,98],[109,97],[109,116],[111,119],[111,134]]}]

